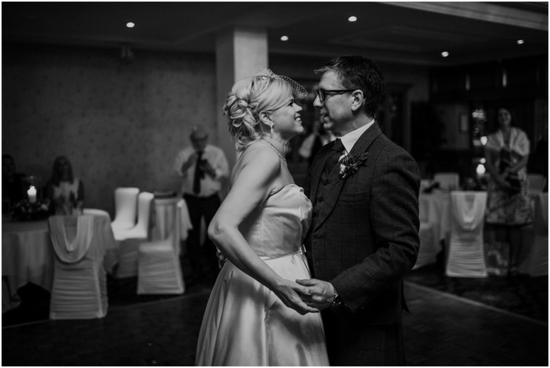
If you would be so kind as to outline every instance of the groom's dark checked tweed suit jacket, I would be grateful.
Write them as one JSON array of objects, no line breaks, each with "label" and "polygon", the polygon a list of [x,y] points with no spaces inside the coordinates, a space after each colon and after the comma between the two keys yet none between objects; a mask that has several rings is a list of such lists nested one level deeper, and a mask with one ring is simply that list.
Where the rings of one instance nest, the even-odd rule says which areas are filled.
[{"label": "groom's dark checked tweed suit jacket", "polygon": [[420,247],[417,164],[374,123],[349,153],[367,152],[365,164],[344,179],[336,165],[322,180],[333,145],[317,153],[305,189],[314,208],[305,239],[312,273],[336,287],[345,303],[336,313],[350,314],[351,324],[400,322],[402,278]]}]

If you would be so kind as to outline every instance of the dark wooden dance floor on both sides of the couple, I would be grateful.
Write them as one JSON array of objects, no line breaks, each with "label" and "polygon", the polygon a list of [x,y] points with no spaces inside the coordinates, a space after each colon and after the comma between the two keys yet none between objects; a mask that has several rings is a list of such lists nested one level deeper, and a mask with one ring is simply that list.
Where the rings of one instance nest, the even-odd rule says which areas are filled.
[{"label": "dark wooden dance floor on both sides of the couple", "polygon": [[[193,365],[209,289],[110,309],[104,319],[2,328],[6,366]],[[410,366],[548,366],[548,325],[405,283]]]}]

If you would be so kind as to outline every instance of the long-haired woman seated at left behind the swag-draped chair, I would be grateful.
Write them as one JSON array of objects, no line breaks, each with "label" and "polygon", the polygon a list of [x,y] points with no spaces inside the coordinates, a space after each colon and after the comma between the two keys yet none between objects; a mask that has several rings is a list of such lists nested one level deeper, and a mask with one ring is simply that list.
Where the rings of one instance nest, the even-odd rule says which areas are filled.
[{"label": "long-haired woman seated at left behind the swag-draped chair", "polygon": [[56,214],[69,215],[73,209],[84,207],[84,184],[73,176],[73,167],[65,156],[55,159],[47,188]]}]

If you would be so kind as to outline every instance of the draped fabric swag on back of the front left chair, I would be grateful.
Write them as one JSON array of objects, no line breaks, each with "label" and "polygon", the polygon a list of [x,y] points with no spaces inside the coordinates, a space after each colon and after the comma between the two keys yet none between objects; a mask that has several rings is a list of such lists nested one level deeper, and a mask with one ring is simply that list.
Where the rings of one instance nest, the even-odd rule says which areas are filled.
[{"label": "draped fabric swag on back of the front left chair", "polygon": [[[59,259],[65,263],[80,261],[92,242],[94,218],[88,215],[78,216],[78,218],[51,216],[49,225],[51,243]],[[73,227],[73,233],[76,233],[72,241],[67,239],[66,230],[69,227]]]}]

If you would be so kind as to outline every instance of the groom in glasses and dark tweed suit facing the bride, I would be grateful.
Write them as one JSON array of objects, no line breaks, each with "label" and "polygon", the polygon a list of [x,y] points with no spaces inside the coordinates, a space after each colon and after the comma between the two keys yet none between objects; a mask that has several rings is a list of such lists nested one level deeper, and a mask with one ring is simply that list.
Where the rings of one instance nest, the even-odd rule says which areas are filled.
[{"label": "groom in glasses and dark tweed suit facing the bride", "polygon": [[420,174],[374,121],[384,95],[376,64],[338,57],[316,72],[314,106],[340,139],[319,150],[309,172],[314,278],[297,280],[310,287],[302,299],[322,310],[331,365],[403,365],[402,279],[420,247]]}]

